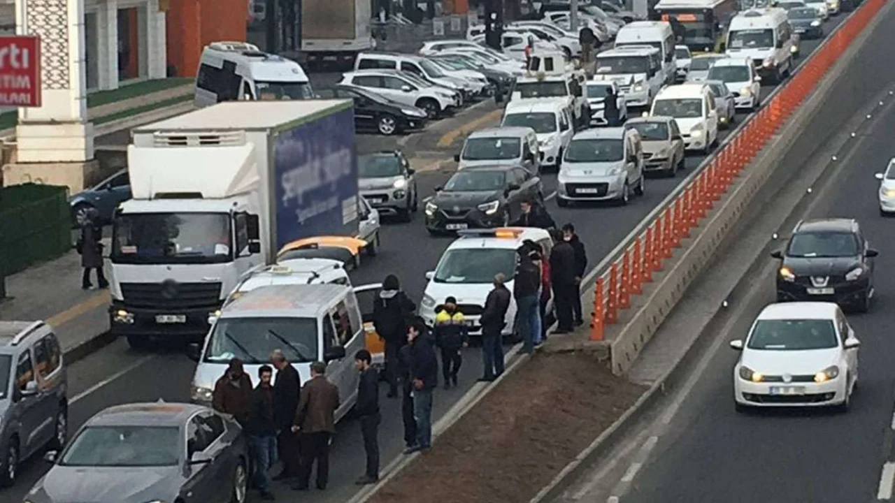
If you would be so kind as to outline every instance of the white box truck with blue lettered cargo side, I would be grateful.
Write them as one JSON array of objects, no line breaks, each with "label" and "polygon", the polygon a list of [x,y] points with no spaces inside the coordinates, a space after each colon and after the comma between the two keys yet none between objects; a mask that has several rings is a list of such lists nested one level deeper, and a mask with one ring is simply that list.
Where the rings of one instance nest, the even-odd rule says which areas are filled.
[{"label": "white box truck with blue lettered cargo side", "polygon": [[350,100],[220,103],[132,137],[109,308],[132,346],[203,337],[243,273],[285,243],[358,234]]}]

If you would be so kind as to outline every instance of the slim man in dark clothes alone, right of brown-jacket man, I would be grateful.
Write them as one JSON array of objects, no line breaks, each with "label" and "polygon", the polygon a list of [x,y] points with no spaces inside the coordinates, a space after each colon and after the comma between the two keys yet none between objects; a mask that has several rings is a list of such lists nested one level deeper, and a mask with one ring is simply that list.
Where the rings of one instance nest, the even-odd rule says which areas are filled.
[{"label": "slim man in dark clothes alone, right of brown-jacket man", "polygon": [[379,481],[379,372],[373,368],[372,362],[373,357],[366,349],[354,354],[354,367],[361,372],[354,413],[357,413],[361,423],[363,451],[367,455],[367,470],[355,482],[357,485]]}]

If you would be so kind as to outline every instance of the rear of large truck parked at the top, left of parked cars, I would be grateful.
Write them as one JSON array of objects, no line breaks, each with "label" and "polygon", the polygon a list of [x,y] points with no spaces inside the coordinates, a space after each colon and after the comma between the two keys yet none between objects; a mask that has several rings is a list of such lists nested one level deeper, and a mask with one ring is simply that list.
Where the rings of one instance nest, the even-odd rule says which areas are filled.
[{"label": "rear of large truck parked at the top, left of parked cars", "polygon": [[375,47],[370,0],[303,0],[301,5],[307,64],[350,68],[358,53]]}]

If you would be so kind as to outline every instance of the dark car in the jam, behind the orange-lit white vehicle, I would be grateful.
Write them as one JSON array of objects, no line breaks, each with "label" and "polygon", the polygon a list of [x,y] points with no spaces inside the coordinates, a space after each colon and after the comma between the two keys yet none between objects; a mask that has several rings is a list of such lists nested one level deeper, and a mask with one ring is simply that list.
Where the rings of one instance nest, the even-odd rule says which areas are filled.
[{"label": "dark car in the jam, behind the orange-lit white vehicle", "polygon": [[456,172],[426,203],[430,234],[507,226],[523,200],[543,200],[541,178],[521,166],[476,166]]}]

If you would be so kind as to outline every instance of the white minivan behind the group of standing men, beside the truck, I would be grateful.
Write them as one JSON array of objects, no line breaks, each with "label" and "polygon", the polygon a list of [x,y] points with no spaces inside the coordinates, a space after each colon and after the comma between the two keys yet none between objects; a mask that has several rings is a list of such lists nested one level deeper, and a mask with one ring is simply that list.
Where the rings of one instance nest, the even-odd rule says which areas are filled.
[{"label": "white minivan behind the group of standing men, beside the truck", "polygon": [[262,286],[221,311],[202,345],[190,345],[198,362],[192,378],[193,403],[208,405],[215,382],[233,358],[243,361],[252,386],[274,350],[311,379],[311,363],[327,362],[327,379],[338,387],[338,421],[357,399],[354,354],[366,347],[366,332],[354,289],[344,285]]}]

